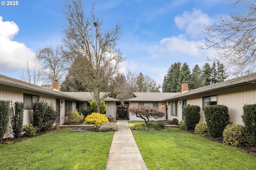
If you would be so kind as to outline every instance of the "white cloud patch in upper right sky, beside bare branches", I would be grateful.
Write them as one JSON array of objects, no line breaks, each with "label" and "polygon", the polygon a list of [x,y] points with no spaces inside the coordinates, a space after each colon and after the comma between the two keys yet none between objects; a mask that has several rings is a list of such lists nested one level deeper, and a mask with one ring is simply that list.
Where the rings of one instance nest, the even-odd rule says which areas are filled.
[{"label": "white cloud patch in upper right sky, beside bare branches", "polygon": [[213,22],[202,10],[185,11],[182,15],[176,16],[174,21],[180,29],[185,29],[186,35],[192,38],[202,37],[204,25],[211,25]]}]

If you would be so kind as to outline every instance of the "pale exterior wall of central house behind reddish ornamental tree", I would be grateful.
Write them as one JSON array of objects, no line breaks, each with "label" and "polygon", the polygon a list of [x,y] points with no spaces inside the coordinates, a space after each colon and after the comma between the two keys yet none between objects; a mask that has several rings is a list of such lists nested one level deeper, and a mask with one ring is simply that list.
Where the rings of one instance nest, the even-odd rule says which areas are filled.
[{"label": "pale exterior wall of central house behind reddish ornamental tree", "polygon": [[[142,102],[143,103],[143,102]],[[144,103],[151,103],[151,102],[144,102]],[[155,102],[154,102],[155,103]],[[162,105],[164,105],[164,107],[162,108]],[[139,102],[130,102],[129,103],[129,107],[133,107],[133,106],[139,106]],[[158,102],[158,109],[163,111],[164,113],[166,112],[166,103],[163,103],[163,102]],[[129,112],[129,120],[131,121],[144,121],[142,118],[140,117],[136,117],[136,115],[132,115],[132,113],[130,112],[130,110],[128,109],[128,112]],[[163,117],[160,117],[158,119],[155,119],[155,118],[150,118],[149,119],[150,121],[159,121],[159,120],[166,120],[166,115],[164,114]]]}]

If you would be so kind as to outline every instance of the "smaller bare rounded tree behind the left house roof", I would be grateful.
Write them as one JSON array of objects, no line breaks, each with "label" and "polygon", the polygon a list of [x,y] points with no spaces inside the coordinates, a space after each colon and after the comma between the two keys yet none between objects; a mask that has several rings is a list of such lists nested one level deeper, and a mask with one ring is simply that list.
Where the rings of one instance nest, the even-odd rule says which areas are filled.
[{"label": "smaller bare rounded tree behind the left house roof", "polygon": [[45,83],[62,80],[68,68],[59,45],[56,48],[46,45],[39,49],[33,60],[38,64],[38,74]]}]

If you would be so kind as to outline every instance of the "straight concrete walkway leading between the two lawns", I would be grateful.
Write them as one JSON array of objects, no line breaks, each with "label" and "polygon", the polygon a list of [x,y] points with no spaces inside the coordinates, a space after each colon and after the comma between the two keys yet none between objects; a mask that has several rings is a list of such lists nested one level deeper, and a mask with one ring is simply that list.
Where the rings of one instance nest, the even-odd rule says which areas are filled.
[{"label": "straight concrete walkway leading between the two lawns", "polygon": [[140,150],[127,128],[127,121],[117,121],[118,131],[114,133],[108,154],[106,170],[147,170]]}]

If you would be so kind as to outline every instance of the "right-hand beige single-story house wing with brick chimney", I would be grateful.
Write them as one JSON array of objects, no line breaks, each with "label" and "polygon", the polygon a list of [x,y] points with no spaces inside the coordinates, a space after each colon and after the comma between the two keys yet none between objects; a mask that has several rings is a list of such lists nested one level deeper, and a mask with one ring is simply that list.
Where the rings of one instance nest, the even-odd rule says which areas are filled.
[{"label": "right-hand beige single-story house wing with brick chimney", "polygon": [[186,90],[161,101],[167,105],[168,119],[181,121],[184,118],[183,108],[189,104],[200,106],[200,122],[205,122],[203,107],[218,104],[228,107],[231,122],[242,125],[243,106],[256,104],[256,73],[194,90],[187,90],[188,83],[185,82],[182,89]]}]

